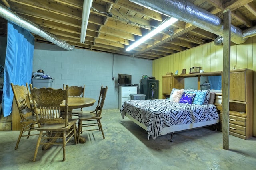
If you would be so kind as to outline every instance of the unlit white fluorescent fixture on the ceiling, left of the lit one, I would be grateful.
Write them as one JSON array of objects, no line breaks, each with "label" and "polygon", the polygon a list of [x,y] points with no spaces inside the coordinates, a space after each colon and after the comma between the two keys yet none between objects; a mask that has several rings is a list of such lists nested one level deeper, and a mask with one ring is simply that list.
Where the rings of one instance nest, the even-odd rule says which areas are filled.
[{"label": "unlit white fluorescent fixture on the ceiling, left of the lit one", "polygon": [[84,0],[80,43],[84,43],[85,41],[85,35],[86,35],[86,29],[89,21],[91,5],[92,5],[92,0]]}]

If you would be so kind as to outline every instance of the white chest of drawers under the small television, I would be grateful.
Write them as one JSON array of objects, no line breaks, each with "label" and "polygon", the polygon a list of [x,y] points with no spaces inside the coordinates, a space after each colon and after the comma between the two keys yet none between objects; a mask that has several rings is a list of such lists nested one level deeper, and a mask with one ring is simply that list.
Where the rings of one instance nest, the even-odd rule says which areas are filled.
[{"label": "white chest of drawers under the small television", "polygon": [[130,94],[137,94],[137,86],[119,86],[118,92],[118,108],[121,109],[122,104],[130,100]]}]

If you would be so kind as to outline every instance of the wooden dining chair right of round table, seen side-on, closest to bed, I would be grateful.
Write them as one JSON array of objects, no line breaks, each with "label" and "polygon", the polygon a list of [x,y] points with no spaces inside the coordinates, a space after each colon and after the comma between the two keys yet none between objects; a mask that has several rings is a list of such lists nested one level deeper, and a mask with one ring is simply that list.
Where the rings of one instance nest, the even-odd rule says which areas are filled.
[{"label": "wooden dining chair right of round table, seen side-on, closest to bed", "polygon": [[[104,101],[106,98],[108,86],[105,88],[101,86],[100,89],[100,96],[98,100],[98,105],[96,106],[96,109],[91,112],[83,112],[79,113],[79,118],[78,118],[78,141],[80,141],[80,134],[84,131],[94,131],[94,130],[99,130],[102,132],[103,139],[105,139],[104,132],[102,129],[102,124],[100,122],[101,113],[104,105]],[[97,126],[98,128],[95,129],[94,126]],[[94,127],[94,128],[90,128]]]}]

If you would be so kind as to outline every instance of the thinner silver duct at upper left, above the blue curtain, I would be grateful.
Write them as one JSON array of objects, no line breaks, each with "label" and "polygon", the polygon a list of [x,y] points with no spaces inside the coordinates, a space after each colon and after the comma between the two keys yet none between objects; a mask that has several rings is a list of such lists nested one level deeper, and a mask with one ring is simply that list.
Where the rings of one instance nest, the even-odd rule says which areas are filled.
[{"label": "thinner silver duct at upper left, above the blue curtain", "polygon": [[70,45],[63,40],[54,37],[54,35],[44,31],[42,28],[38,27],[38,25],[26,20],[25,18],[18,16],[16,13],[12,12],[2,4],[0,4],[0,16],[36,35],[39,35],[40,37],[54,43],[55,45],[58,45],[59,47],[62,47],[66,50],[75,49],[74,45]]}]

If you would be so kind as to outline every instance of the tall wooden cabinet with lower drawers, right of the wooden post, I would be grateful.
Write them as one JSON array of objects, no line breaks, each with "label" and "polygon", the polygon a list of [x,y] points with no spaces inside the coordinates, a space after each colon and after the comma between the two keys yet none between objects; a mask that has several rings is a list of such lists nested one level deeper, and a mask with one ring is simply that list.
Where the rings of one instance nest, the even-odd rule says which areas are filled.
[{"label": "tall wooden cabinet with lower drawers, right of the wooden post", "polygon": [[[248,139],[253,133],[253,71],[230,71],[229,134]],[[220,129],[222,129],[220,111]]]}]

